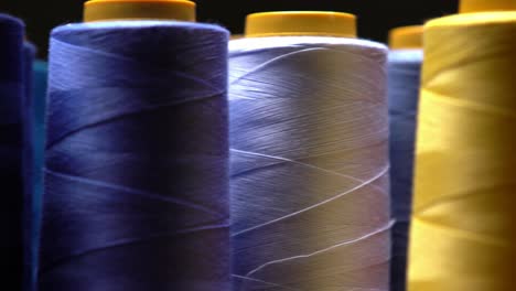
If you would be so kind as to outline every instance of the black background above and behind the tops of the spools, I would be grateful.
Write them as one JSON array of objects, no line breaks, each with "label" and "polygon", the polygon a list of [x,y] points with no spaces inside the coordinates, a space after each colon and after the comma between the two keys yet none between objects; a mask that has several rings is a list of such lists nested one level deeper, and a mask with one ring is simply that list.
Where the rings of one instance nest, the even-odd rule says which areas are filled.
[{"label": "black background above and behind the tops of the spools", "polygon": [[[56,25],[82,20],[84,0],[0,0],[0,11],[25,21],[28,37],[46,56],[50,31]],[[327,10],[358,17],[363,39],[385,42],[389,29],[419,24],[454,13],[456,0],[196,0],[197,18],[241,33],[246,14],[278,10]]]}]

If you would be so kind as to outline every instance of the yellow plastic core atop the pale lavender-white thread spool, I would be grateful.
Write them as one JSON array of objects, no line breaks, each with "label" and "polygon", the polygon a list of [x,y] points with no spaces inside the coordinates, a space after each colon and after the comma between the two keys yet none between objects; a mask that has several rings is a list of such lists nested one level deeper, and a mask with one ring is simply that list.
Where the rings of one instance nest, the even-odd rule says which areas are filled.
[{"label": "yellow plastic core atop the pale lavender-white thread spool", "polygon": [[338,36],[356,39],[356,17],[342,12],[291,11],[249,14],[246,37]]}]

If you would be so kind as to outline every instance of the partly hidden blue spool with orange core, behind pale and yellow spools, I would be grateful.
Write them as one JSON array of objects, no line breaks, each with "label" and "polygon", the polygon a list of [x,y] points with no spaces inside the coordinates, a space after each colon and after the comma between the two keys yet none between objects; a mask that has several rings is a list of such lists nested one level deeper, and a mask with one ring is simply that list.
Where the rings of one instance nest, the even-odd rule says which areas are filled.
[{"label": "partly hidden blue spool with orange core, behind pale and yellow spools", "polygon": [[390,193],[393,230],[390,290],[406,290],[407,246],[412,204],[412,172],[422,64],[422,26],[390,33],[388,98],[390,118]]}]

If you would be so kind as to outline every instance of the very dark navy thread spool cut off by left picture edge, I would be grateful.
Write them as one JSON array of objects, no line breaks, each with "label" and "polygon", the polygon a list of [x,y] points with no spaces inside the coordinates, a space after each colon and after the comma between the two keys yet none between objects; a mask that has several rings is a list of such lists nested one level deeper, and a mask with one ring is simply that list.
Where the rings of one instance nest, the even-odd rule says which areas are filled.
[{"label": "very dark navy thread spool cut off by left picture edge", "polygon": [[23,272],[22,125],[23,23],[0,14],[0,272],[2,285],[21,290]]}]

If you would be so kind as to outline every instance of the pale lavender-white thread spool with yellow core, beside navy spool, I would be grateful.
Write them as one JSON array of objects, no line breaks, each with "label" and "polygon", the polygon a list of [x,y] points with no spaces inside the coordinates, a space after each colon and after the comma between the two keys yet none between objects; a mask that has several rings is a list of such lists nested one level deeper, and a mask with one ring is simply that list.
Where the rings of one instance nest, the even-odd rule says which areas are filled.
[{"label": "pale lavender-white thread spool with yellow core, beside navy spool", "polygon": [[229,43],[233,290],[388,290],[387,50],[355,35],[272,12]]}]

